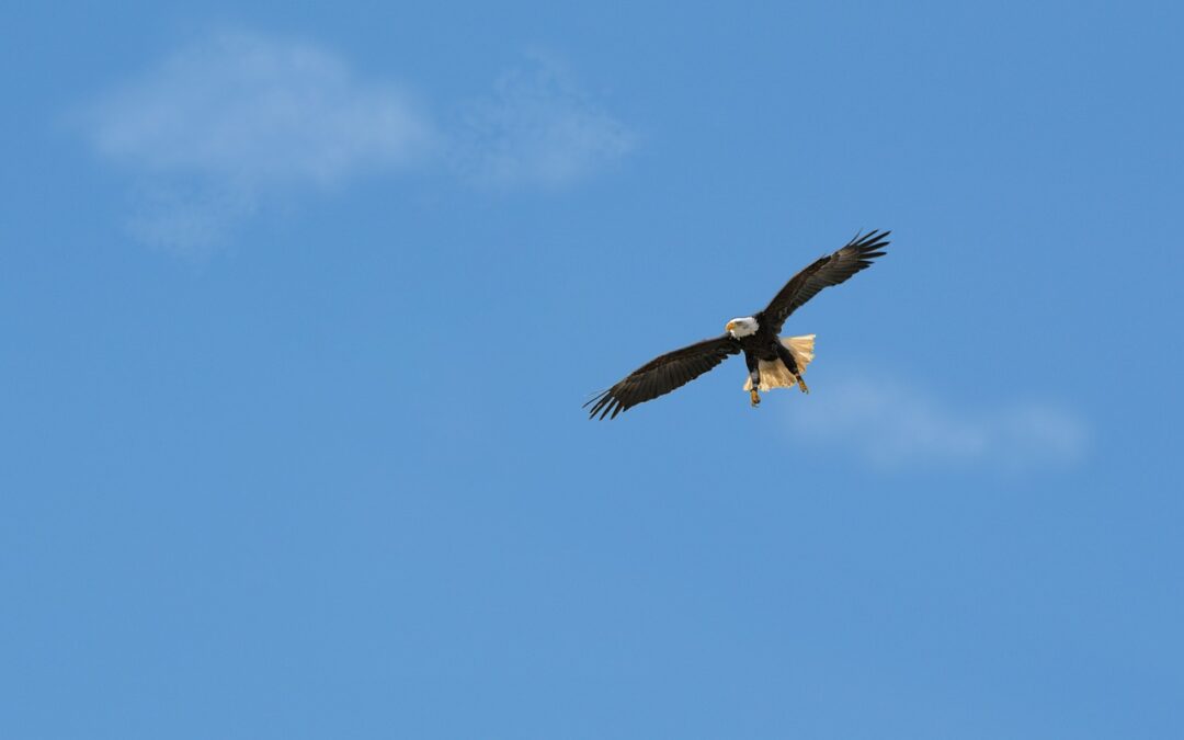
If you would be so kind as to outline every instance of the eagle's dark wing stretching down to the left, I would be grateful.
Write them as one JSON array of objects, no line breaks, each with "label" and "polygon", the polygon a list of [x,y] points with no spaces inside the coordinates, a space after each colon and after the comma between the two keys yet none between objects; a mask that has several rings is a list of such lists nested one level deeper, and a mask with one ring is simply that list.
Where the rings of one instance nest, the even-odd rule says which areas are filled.
[{"label": "eagle's dark wing stretching down to the left", "polygon": [[598,413],[601,419],[606,416],[612,419],[631,406],[644,404],[687,385],[726,360],[728,355],[739,353],[740,342],[727,334],[668,352],[638,367],[624,380],[584,404],[584,407],[592,406],[592,411],[588,412],[590,419],[596,418]]}]

